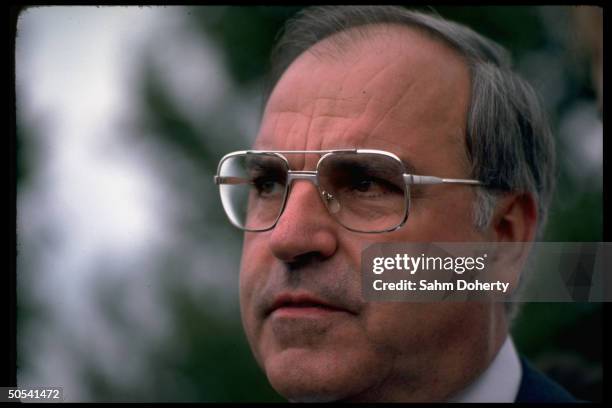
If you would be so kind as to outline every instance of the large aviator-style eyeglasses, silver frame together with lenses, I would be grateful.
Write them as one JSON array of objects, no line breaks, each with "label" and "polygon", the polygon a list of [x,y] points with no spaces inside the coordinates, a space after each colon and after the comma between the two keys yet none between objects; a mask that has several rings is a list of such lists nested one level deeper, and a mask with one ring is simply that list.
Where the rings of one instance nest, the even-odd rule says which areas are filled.
[{"label": "large aviator-style eyeglasses, silver frame together with lenses", "polygon": [[[322,157],[314,171],[293,171],[284,156],[289,154]],[[482,185],[408,174],[393,153],[370,149],[238,151],[221,159],[214,176],[229,220],[250,232],[274,228],[294,180],[313,182],[333,218],[348,230],[365,233],[394,231],[406,223],[411,185]]]}]

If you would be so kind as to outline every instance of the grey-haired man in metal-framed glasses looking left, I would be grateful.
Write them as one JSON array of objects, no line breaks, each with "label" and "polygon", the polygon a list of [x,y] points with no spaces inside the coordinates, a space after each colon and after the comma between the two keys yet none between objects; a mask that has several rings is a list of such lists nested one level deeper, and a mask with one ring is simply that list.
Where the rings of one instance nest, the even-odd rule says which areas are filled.
[{"label": "grey-haired man in metal-framed glasses looking left", "polygon": [[504,303],[361,295],[368,244],[542,228],[552,140],[505,52],[399,7],[318,7],[287,26],[275,63],[266,153],[229,155],[216,178],[247,231],[242,319],[272,386],[290,401],[572,401],[518,358]]}]

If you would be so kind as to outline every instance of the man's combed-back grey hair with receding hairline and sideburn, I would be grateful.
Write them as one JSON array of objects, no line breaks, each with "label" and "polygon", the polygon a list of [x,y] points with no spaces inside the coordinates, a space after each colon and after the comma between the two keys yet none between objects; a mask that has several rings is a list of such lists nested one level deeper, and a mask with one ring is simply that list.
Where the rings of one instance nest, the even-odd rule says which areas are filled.
[{"label": "man's combed-back grey hair with receding hairline and sideburn", "polygon": [[[554,190],[555,154],[546,115],[531,85],[512,71],[508,51],[468,27],[400,6],[304,9],[287,22],[273,51],[264,106],[284,71],[304,51],[349,29],[365,37],[365,30],[360,28],[375,24],[418,29],[464,58],[472,86],[466,129],[466,153],[472,165],[470,176],[487,186],[476,189],[474,222],[478,228],[490,224],[500,195],[530,193],[537,202],[536,239],[539,239]],[[506,305],[512,319],[516,303]]]}]

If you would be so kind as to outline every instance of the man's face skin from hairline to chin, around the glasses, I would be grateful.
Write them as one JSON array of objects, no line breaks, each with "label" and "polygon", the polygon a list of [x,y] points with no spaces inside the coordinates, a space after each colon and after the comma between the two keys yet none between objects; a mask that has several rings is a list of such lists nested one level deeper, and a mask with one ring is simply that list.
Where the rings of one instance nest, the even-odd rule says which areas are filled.
[{"label": "man's face skin from hairline to chin, around the glasses", "polygon": [[[269,99],[256,148],[380,149],[416,174],[468,178],[468,67],[416,31],[375,31],[333,58],[302,54]],[[319,158],[288,155],[293,170]],[[272,386],[290,400],[427,400],[473,378],[495,347],[491,307],[365,302],[360,260],[376,242],[483,240],[474,198],[466,186],[425,186],[401,229],[363,234],[338,224],[312,183],[294,182],[276,227],[246,233],[240,271],[243,324]]]}]

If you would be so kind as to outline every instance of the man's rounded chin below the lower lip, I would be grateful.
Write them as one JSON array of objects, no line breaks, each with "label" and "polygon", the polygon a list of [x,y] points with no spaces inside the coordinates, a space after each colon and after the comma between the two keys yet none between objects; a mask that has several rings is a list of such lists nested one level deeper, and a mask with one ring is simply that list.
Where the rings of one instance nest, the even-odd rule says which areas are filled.
[{"label": "man's rounded chin below the lower lip", "polygon": [[364,370],[354,358],[326,354],[290,349],[271,356],[264,364],[268,381],[291,402],[344,400],[376,385],[375,370]]}]

